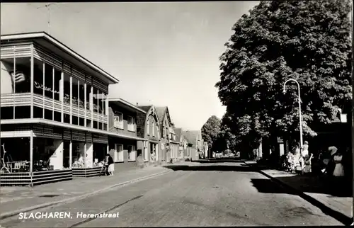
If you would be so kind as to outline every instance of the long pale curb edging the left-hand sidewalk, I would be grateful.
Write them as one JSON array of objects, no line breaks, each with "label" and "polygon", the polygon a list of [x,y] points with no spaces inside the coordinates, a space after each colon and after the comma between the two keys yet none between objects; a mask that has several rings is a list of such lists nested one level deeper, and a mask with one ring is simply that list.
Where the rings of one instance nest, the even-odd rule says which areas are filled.
[{"label": "long pale curb edging the left-hand sidewalk", "polygon": [[0,220],[4,220],[8,217],[12,217],[14,215],[18,215],[19,213],[21,212],[29,212],[31,210],[37,210],[37,209],[41,209],[41,208],[44,208],[44,207],[49,207],[49,206],[52,206],[52,205],[59,205],[61,203],[72,203],[76,200],[81,200],[83,198],[86,198],[86,197],[89,197],[91,195],[96,195],[97,193],[102,193],[104,192],[105,190],[109,190],[110,188],[115,188],[115,187],[118,187],[118,186],[124,186],[126,185],[127,183],[135,183],[137,181],[143,181],[145,179],[149,179],[149,178],[152,178],[154,176],[161,176],[165,173],[170,173],[172,172],[171,170],[168,170],[168,171],[162,171],[160,173],[154,173],[154,174],[151,174],[151,175],[148,175],[148,176],[143,176],[143,177],[140,177],[140,178],[135,178],[133,180],[130,180],[130,181],[125,181],[125,182],[122,182],[122,183],[116,183],[114,184],[113,186],[108,186],[106,188],[103,188],[103,189],[100,189],[100,190],[96,190],[94,192],[91,192],[91,193],[86,193],[84,195],[78,195],[78,196],[74,196],[72,198],[67,198],[67,199],[63,199],[63,200],[57,200],[57,201],[54,201],[54,202],[50,202],[50,203],[42,203],[40,205],[35,205],[35,206],[32,206],[32,207],[26,207],[26,208],[23,208],[23,209],[20,209],[20,210],[15,210],[15,211],[12,211],[12,212],[6,212],[6,213],[2,213],[0,215]]}]

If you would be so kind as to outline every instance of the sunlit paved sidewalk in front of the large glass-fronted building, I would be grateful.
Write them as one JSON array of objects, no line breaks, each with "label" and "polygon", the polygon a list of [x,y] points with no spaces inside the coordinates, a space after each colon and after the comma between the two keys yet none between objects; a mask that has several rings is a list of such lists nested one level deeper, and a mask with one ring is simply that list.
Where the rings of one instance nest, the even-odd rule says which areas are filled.
[{"label": "sunlit paved sidewalk in front of the large glass-fronted building", "polygon": [[[91,178],[74,178],[72,181],[49,183],[30,187],[0,188],[0,219],[10,212],[28,211],[28,208],[45,207],[65,200],[75,200],[85,195],[107,190],[137,179],[158,175],[169,171],[161,166],[147,166],[144,169],[134,169],[115,173],[114,176]],[[27,210],[26,210],[27,209]]]}]

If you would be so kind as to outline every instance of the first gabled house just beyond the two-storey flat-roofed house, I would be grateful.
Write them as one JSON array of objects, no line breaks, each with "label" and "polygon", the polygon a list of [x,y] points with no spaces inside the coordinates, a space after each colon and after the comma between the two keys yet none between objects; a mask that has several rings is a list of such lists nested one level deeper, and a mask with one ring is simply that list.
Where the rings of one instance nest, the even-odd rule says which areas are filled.
[{"label": "first gabled house just beyond the two-storey flat-roofed house", "polygon": [[164,161],[161,150],[160,121],[154,106],[138,106],[145,113],[137,113],[137,136],[146,139],[138,142],[137,149],[142,152],[145,162]]}]

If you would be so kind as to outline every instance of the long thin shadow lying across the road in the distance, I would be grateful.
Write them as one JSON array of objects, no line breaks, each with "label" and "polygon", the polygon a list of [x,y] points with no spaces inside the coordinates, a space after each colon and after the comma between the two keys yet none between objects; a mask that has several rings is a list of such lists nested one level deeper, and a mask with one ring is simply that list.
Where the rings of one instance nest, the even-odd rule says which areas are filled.
[{"label": "long thin shadow lying across the road in the distance", "polygon": [[235,171],[235,172],[254,172],[256,169],[247,166],[185,166],[167,165],[164,166],[173,171]]}]

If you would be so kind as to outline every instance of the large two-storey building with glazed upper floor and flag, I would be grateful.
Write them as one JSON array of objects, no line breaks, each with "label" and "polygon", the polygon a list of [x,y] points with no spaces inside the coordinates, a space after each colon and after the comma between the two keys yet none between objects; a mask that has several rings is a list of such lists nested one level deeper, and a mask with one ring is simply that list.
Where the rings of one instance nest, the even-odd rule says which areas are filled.
[{"label": "large two-storey building with glazed upper floor and flag", "polygon": [[103,159],[118,82],[47,33],[1,35],[1,185],[67,180],[75,161]]}]

